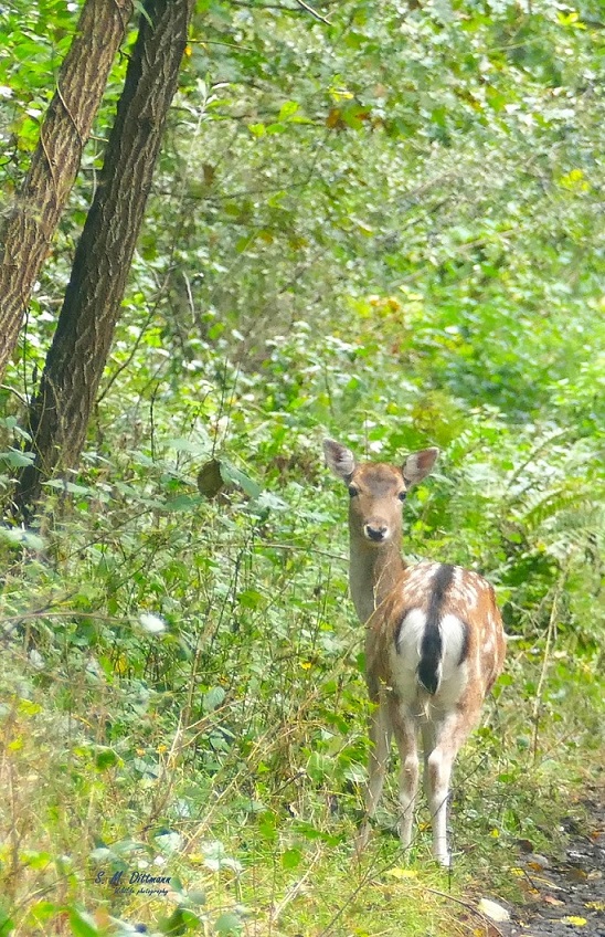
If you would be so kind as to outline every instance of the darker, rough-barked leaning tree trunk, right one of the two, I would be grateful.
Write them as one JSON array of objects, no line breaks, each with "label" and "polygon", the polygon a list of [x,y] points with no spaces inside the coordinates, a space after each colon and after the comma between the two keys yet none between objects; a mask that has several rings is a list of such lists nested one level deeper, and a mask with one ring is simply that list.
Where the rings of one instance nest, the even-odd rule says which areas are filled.
[{"label": "darker, rough-barked leaning tree trunk, right one of the two", "polygon": [[99,186],[29,414],[34,464],[19,480],[23,513],[54,471],[77,464],[124,296],[194,0],[147,0]]}]

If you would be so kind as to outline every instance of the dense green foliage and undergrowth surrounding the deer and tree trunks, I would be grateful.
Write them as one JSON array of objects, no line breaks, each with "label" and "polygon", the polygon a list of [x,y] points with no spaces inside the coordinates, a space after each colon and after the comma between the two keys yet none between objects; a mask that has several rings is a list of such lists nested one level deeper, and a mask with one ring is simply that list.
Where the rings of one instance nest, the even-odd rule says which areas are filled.
[{"label": "dense green foliage and undergrowth surrounding the deer and tree trunks", "polygon": [[[74,7],[0,11],[3,191]],[[601,4],[285,7],[199,3],[82,471],[0,530],[0,934],[364,935],[376,907],[381,933],[469,933],[424,835],[411,868],[388,836],[351,863],[368,704],[326,432],[443,449],[405,551],[484,571],[514,638],[452,887],[510,888],[493,868],[598,761]],[[123,72],[0,388],[6,493]]]}]

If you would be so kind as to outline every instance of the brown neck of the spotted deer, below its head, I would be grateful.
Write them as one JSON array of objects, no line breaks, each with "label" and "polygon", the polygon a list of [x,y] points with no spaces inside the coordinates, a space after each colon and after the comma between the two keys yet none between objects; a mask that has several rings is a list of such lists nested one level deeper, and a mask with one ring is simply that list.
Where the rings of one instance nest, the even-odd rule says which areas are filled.
[{"label": "brown neck of the spotted deer, below its head", "polygon": [[395,588],[405,562],[394,541],[375,547],[368,544],[365,538],[351,538],[350,550],[351,598],[358,618],[364,624]]}]

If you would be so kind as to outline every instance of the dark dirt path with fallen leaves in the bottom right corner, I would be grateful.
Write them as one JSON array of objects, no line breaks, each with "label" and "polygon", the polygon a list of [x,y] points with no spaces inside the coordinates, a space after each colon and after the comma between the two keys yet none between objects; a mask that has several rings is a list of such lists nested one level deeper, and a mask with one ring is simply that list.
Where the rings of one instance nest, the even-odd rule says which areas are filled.
[{"label": "dark dirt path with fallen leaves in the bottom right corner", "polygon": [[605,798],[591,791],[582,801],[587,831],[570,820],[563,856],[528,852],[519,863],[526,875],[527,904],[498,924],[502,937],[605,937]]}]

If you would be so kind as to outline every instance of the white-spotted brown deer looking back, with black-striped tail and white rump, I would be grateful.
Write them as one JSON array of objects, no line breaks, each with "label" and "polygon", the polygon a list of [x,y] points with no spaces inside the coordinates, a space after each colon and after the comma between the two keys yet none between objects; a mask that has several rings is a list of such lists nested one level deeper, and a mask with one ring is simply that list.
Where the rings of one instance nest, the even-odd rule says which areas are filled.
[{"label": "white-spotted brown deer looking back, with black-striped tail and white rump", "polygon": [[372,705],[365,810],[357,839],[368,843],[394,735],[400,755],[399,834],[412,845],[420,760],[433,828],[433,854],[452,864],[447,810],[454,761],[479,722],[506,653],[490,583],[460,566],[401,554],[402,506],[433,470],[439,450],[403,465],[358,463],[346,445],[323,441],[326,464],[349,491],[349,587],[365,625],[365,682]]}]

